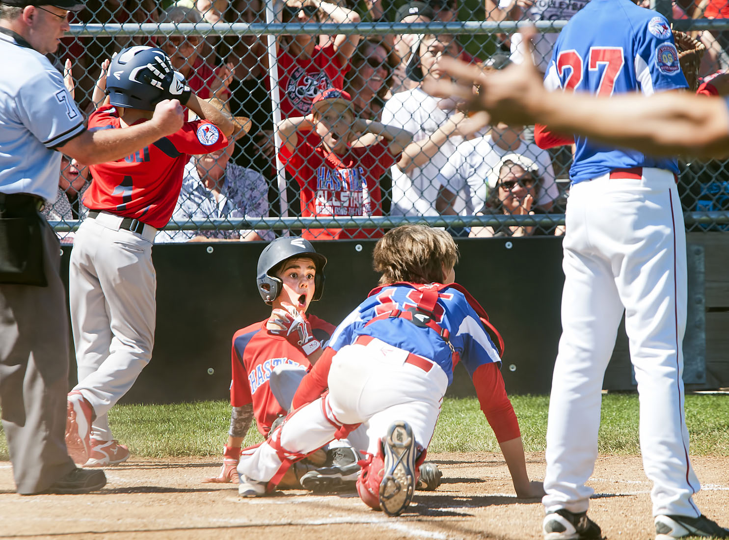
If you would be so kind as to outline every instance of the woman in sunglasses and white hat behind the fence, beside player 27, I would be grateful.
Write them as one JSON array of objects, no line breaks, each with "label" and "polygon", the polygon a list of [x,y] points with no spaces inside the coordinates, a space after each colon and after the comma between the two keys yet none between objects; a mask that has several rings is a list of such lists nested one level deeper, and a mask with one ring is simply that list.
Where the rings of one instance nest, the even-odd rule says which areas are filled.
[{"label": "woman in sunglasses and white hat behind the fence, beside player 27", "polygon": [[[477,212],[476,215],[534,215],[532,206],[539,197],[541,188],[537,163],[521,154],[507,154],[494,168],[494,173],[498,174],[496,187],[488,195],[483,211]],[[531,236],[535,232],[537,232],[537,227],[499,225],[498,227],[472,227],[469,236]]]}]

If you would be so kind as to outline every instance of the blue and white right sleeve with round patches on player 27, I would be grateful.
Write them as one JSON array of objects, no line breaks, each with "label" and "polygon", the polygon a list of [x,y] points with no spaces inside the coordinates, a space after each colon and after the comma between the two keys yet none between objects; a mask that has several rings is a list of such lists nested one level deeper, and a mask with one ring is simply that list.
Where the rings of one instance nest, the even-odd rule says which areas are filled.
[{"label": "blue and white right sleeve with round patches on player 27", "polygon": [[671,26],[662,15],[655,14],[636,29],[635,43],[636,79],[644,95],[688,87]]}]

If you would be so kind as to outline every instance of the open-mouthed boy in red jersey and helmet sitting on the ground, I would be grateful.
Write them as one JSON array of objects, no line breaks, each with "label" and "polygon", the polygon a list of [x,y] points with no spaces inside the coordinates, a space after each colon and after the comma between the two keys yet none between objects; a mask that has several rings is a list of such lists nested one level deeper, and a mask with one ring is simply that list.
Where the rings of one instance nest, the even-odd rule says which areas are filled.
[{"label": "open-mouthed boy in red jersey and helmet sitting on the ground", "polygon": [[[321,345],[334,326],[306,311],[324,291],[326,264],[327,258],[303,238],[276,238],[262,251],[258,291],[271,306],[271,315],[233,335],[230,431],[220,473],[203,482],[238,483],[235,467],[252,419],[266,437],[273,421],[287,414],[300,381],[321,356]],[[354,463],[356,456],[351,455]],[[284,478],[284,485],[297,488],[297,478]]]}]

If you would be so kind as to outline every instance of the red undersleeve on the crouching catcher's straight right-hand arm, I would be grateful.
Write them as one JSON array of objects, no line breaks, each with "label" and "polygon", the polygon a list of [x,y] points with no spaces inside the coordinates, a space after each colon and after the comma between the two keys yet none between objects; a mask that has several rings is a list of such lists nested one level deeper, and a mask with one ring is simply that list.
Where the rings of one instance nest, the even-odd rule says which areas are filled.
[{"label": "red undersleeve on the crouching catcher's straight right-hand arm", "polygon": [[519,422],[509,396],[506,395],[504,377],[498,364],[481,364],[472,378],[481,410],[494,430],[496,440],[504,442],[519,437]]}]

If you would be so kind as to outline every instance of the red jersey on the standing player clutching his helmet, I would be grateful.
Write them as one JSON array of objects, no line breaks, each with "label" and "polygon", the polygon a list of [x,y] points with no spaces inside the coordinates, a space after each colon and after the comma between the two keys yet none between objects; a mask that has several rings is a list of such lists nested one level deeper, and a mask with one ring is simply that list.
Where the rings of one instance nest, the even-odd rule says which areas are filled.
[{"label": "red jersey on the standing player clutching his helmet", "polygon": [[[111,105],[101,107],[89,117],[88,128],[120,129],[117,110]],[[164,227],[175,209],[190,154],[208,154],[227,144],[227,137],[211,122],[185,122],[176,133],[134,154],[90,165],[92,181],[83,203],[91,210],[139,219],[155,229]]]}]

